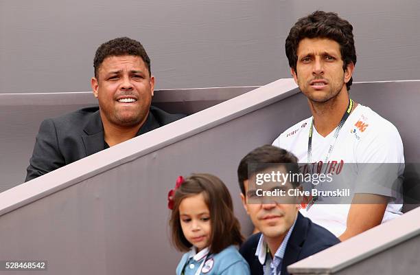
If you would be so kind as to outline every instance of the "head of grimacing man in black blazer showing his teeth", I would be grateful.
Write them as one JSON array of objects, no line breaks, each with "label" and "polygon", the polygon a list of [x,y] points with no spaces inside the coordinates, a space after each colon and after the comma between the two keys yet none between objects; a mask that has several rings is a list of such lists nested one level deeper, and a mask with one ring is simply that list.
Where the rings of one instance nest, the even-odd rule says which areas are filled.
[{"label": "head of grimacing man in black blazer showing his teeth", "polygon": [[98,47],[93,60],[93,94],[102,122],[139,126],[147,118],[154,91],[150,58],[139,41],[121,37]]}]

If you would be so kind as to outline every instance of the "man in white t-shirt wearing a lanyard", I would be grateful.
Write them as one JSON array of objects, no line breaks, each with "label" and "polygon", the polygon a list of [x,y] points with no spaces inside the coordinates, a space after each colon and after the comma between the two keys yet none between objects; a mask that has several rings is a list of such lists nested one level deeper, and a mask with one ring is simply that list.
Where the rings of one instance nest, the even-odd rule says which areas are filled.
[{"label": "man in white t-shirt wearing a lanyard", "polygon": [[[356,63],[352,31],[348,21],[321,11],[299,19],[292,27],[285,51],[313,116],[273,142],[294,153],[301,163],[352,165],[353,181],[363,184],[354,188],[351,204],[323,204],[313,199],[301,209],[341,241],[401,214],[404,171],[403,145],[395,126],[349,98]],[[382,181],[392,185],[369,188]]]}]

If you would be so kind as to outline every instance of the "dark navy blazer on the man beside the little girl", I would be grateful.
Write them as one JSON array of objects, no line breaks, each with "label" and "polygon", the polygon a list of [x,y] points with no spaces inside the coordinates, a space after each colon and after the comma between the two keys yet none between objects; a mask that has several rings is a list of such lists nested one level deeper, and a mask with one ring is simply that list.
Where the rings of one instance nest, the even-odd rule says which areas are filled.
[{"label": "dark navy blazer on the man beside the little girl", "polygon": [[[264,274],[263,266],[255,256],[261,233],[250,236],[240,248],[240,253],[248,262],[251,274]],[[285,248],[283,262],[281,263],[281,275],[288,274],[288,265],[301,261],[325,248],[340,243],[340,240],[325,228],[312,223],[310,219],[298,213],[293,232],[290,235],[288,245]]]}]

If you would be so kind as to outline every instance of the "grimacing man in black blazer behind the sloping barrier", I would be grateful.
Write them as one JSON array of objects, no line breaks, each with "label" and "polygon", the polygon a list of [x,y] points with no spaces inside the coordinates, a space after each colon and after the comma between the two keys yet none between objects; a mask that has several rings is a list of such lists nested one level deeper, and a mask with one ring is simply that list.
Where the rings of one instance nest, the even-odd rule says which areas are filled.
[{"label": "grimacing man in black blazer behind the sloping barrier", "polygon": [[154,76],[138,41],[122,37],[100,45],[93,67],[91,87],[99,107],[44,120],[25,181],[185,116],[150,105]]}]

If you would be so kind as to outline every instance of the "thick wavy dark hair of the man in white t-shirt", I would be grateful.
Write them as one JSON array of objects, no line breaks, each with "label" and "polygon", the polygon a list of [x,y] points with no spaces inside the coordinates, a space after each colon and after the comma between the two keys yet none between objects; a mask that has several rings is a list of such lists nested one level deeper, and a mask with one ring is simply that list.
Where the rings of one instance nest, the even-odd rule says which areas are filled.
[{"label": "thick wavy dark hair of the man in white t-shirt", "polygon": [[[296,72],[297,50],[302,39],[331,39],[340,45],[342,69],[347,65],[356,63],[356,54],[353,39],[353,26],[349,21],[341,19],[334,12],[316,12],[302,17],[290,29],[288,38],[285,40],[285,52],[288,56],[289,66]],[[347,90],[353,83],[353,77],[346,83]]]}]

